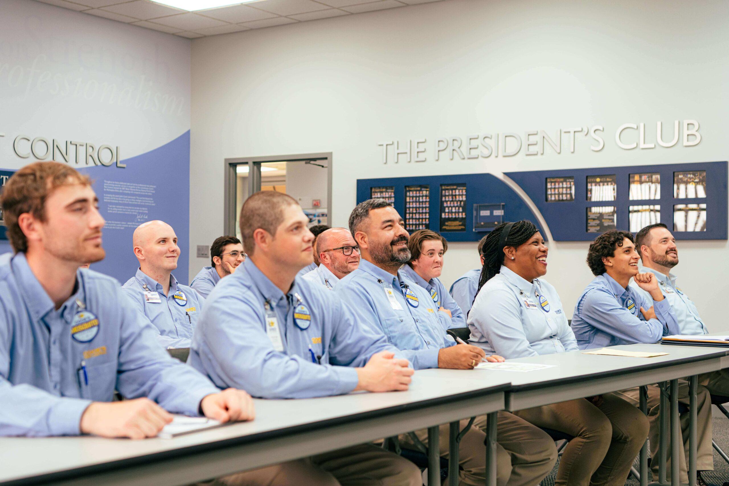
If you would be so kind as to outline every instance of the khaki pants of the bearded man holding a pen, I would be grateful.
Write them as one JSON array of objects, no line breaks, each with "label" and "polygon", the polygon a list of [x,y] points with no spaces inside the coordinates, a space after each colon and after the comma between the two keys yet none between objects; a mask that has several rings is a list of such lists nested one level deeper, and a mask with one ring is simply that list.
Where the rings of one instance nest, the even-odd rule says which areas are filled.
[{"label": "khaki pants of the bearded man holding a pen", "polygon": [[[469,420],[461,420],[463,429]],[[557,448],[554,441],[509,412],[498,412],[496,429],[496,484],[499,486],[538,485],[554,467]],[[440,426],[440,455],[448,458],[448,424]],[[428,443],[428,430],[416,431],[416,436]],[[486,480],[486,415],[477,417],[472,428],[463,436],[459,447],[461,486],[482,486]],[[415,449],[408,434],[399,436],[402,447]],[[449,471],[448,474],[453,474]]]}]

